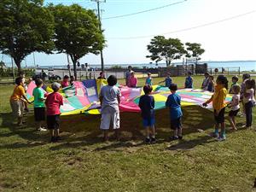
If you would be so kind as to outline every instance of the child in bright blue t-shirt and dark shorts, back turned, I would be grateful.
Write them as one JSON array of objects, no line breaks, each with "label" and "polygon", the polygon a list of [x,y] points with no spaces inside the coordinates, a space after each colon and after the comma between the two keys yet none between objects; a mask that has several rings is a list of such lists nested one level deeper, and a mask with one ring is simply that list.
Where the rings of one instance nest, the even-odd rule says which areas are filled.
[{"label": "child in bright blue t-shirt and dark shorts, back turned", "polygon": [[183,116],[181,110],[181,97],[177,95],[177,84],[171,84],[169,89],[172,94],[168,96],[166,101],[166,108],[170,108],[170,119],[171,119],[171,129],[174,131],[171,140],[182,139],[182,125],[181,118]]}]

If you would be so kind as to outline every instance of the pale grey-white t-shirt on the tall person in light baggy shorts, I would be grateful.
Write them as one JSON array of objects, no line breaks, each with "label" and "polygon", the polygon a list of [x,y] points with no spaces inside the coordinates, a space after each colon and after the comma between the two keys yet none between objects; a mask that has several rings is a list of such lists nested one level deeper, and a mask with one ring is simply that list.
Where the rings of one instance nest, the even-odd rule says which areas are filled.
[{"label": "pale grey-white t-shirt on the tall person in light baggy shorts", "polygon": [[121,96],[120,90],[117,86],[103,86],[100,92],[102,99],[102,113],[119,112],[118,96]]}]

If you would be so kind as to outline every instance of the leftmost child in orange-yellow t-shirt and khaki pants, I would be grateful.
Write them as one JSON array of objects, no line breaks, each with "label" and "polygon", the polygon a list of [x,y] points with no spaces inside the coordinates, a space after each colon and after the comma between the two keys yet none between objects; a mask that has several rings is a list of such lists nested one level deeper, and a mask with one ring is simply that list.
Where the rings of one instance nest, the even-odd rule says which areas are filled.
[{"label": "leftmost child in orange-yellow t-shirt and khaki pants", "polygon": [[19,77],[15,79],[15,90],[10,96],[10,106],[12,108],[13,114],[15,118],[18,119],[17,125],[22,125],[22,120],[23,120],[23,103],[22,102],[27,102],[31,103],[27,100],[26,98],[26,92],[24,89],[24,84],[23,84],[23,78]]}]

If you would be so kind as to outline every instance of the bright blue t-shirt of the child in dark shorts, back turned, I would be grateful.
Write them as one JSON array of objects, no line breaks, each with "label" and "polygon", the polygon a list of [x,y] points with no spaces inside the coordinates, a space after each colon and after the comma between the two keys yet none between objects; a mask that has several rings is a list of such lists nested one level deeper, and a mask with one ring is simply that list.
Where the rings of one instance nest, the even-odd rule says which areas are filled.
[{"label": "bright blue t-shirt of the child in dark shorts, back turned", "polygon": [[171,119],[177,119],[183,116],[180,102],[181,102],[181,97],[178,96],[177,93],[174,93],[168,96],[166,101],[166,107],[170,108]]}]

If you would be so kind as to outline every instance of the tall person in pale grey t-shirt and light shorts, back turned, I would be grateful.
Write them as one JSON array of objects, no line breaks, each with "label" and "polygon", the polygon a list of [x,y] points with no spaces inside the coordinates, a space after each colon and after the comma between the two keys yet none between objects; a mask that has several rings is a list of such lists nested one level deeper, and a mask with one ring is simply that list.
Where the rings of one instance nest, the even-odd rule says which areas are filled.
[{"label": "tall person in pale grey t-shirt and light shorts, back turned", "polygon": [[119,103],[120,103],[120,90],[117,86],[117,79],[115,76],[108,77],[108,85],[103,86],[100,92],[100,102],[102,106],[102,120],[101,130],[104,132],[104,141],[108,141],[108,130],[110,124],[113,125],[113,130],[117,140],[119,139]]}]

